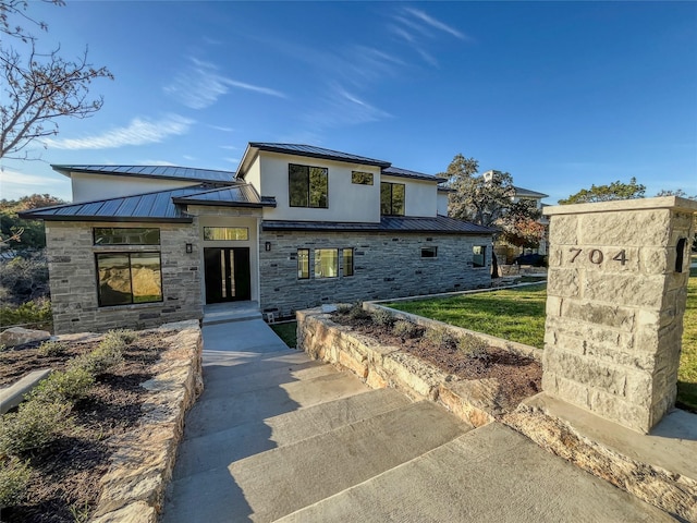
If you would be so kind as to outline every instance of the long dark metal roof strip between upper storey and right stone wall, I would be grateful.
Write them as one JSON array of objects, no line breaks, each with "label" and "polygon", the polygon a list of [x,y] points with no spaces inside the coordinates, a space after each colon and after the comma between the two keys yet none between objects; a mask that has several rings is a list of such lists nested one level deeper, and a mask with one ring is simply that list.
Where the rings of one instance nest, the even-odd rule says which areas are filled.
[{"label": "long dark metal roof strip between upper storey and right stone wall", "polygon": [[372,223],[265,220],[261,227],[265,231],[419,232],[487,235],[497,232],[497,229],[440,215],[432,218],[383,216],[380,222]]}]

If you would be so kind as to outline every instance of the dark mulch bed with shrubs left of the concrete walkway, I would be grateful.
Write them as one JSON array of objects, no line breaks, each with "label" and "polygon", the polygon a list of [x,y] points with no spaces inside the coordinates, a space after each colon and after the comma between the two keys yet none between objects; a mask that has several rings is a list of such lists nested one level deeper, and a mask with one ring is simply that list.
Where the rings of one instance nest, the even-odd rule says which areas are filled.
[{"label": "dark mulch bed with shrubs left of the concrete walkway", "polygon": [[[146,332],[123,352],[124,362],[97,378],[90,394],[80,400],[72,415],[75,430],[47,448],[25,457],[35,471],[23,504],[2,510],[3,523],[62,523],[87,521],[100,494],[99,479],[109,469],[111,436],[127,431],[142,416],[154,365],[167,349],[160,332]],[[94,350],[98,340],[70,342],[59,356],[38,353],[38,343],[0,352],[0,387],[39,368],[61,370],[69,360]]]}]

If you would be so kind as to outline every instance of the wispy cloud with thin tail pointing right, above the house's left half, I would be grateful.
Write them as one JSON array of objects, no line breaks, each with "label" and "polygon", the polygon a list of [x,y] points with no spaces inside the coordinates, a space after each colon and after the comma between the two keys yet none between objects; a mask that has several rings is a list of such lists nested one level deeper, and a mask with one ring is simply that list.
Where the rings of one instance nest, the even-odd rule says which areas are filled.
[{"label": "wispy cloud with thin tail pointing right, above the house's left half", "polygon": [[205,109],[218,98],[227,95],[231,88],[249,90],[260,95],[285,98],[286,96],[270,87],[240,82],[220,74],[218,68],[203,60],[189,58],[189,65],[176,75],[164,93],[191,109]]}]

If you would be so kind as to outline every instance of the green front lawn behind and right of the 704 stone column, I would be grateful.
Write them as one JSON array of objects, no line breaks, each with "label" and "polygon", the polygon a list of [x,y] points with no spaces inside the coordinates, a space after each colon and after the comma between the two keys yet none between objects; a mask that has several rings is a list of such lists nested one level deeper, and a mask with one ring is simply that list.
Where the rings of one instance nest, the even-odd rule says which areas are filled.
[{"label": "green front lawn behind and right of the 704 stone column", "polygon": [[[545,285],[464,294],[390,307],[466,329],[542,349],[545,346]],[[684,317],[683,352],[677,372],[677,403],[697,412],[697,268],[690,270]]]}]

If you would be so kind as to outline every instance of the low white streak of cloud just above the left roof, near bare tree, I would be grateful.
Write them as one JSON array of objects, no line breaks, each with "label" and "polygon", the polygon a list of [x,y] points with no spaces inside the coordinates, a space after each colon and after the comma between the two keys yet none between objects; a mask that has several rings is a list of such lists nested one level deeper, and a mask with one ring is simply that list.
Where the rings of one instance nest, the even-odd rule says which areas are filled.
[{"label": "low white streak of cloud just above the left roof, near bare tree", "polygon": [[47,147],[54,149],[108,149],[126,145],[145,145],[163,142],[170,136],[186,134],[193,120],[170,114],[162,120],[135,118],[126,127],[117,127],[96,136],[84,138],[46,138]]}]

